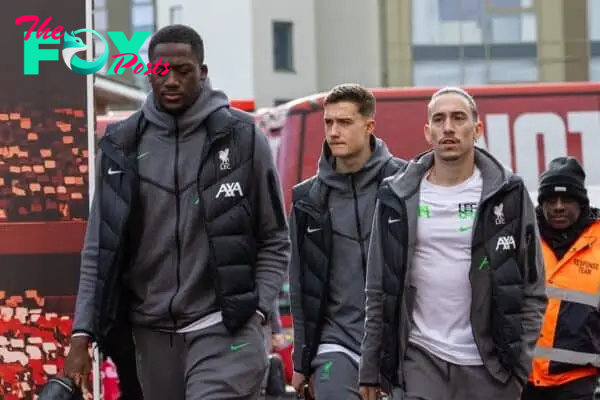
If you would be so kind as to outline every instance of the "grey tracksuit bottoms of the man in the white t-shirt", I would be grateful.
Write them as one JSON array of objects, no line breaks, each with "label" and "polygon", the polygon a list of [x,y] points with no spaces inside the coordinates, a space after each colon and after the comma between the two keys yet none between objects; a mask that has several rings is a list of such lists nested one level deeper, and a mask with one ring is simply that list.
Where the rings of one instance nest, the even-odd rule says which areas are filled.
[{"label": "grey tracksuit bottoms of the man in the white t-shirt", "polygon": [[406,392],[396,389],[394,400],[519,400],[515,379],[496,381],[484,366],[455,365],[410,345],[404,360]]}]

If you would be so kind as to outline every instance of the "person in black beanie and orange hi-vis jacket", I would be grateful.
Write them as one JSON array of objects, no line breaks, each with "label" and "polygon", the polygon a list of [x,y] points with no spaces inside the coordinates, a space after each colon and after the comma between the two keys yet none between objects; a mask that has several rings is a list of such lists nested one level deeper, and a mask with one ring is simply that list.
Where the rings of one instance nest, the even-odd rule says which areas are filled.
[{"label": "person in black beanie and orange hi-vis jacket", "polygon": [[591,400],[600,371],[600,210],[573,157],[540,176],[538,226],[549,297],[522,400]]}]

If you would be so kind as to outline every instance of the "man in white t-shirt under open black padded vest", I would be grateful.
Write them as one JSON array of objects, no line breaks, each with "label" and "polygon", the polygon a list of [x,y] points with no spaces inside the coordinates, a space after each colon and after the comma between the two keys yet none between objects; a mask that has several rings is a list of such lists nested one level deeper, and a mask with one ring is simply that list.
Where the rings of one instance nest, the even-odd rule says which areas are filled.
[{"label": "man in white t-shirt under open black padded vest", "polygon": [[475,100],[437,91],[431,150],[384,182],[367,266],[363,400],[515,400],[547,298],[522,179],[475,146]]}]

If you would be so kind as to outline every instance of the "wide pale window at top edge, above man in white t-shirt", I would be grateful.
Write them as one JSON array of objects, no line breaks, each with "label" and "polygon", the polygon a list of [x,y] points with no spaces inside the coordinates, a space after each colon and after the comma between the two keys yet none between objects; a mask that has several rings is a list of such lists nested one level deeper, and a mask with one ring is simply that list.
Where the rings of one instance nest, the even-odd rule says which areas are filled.
[{"label": "wide pale window at top edge, above man in white t-shirt", "polygon": [[535,43],[537,39],[533,0],[414,0],[412,21],[415,45]]}]

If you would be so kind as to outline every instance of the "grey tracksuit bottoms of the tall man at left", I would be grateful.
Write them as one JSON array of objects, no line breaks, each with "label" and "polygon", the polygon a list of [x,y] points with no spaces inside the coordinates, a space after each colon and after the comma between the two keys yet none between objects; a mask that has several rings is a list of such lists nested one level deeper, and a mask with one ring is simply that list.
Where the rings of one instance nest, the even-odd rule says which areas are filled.
[{"label": "grey tracksuit bottoms of the tall man at left", "polygon": [[267,368],[263,328],[223,324],[185,334],[134,328],[144,400],[256,400]]}]

